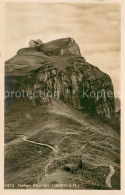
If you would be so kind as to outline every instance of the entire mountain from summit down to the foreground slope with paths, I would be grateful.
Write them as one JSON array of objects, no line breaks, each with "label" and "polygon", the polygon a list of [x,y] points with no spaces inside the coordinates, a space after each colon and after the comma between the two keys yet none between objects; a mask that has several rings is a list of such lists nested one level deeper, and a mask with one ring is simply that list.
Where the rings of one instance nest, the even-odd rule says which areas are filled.
[{"label": "entire mountain from summit down to the foreground slope with paths", "polygon": [[113,84],[77,43],[20,49],[5,74],[5,188],[120,189]]}]

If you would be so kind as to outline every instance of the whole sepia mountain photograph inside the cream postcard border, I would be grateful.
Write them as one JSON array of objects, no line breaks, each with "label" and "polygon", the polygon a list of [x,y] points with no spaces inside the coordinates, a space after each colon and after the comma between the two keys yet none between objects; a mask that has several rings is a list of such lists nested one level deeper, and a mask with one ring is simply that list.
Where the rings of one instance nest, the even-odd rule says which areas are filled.
[{"label": "whole sepia mountain photograph inside the cream postcard border", "polygon": [[4,189],[121,189],[121,4],[6,2]]}]

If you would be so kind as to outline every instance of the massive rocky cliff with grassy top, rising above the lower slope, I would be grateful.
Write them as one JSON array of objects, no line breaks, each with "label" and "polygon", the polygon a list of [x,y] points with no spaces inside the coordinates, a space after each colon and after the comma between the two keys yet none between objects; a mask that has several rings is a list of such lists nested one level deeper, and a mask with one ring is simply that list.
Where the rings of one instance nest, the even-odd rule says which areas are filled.
[{"label": "massive rocky cliff with grassy top, rising above the lower slope", "polygon": [[110,77],[87,63],[71,38],[21,49],[6,61],[5,71],[6,91],[37,91],[37,97],[28,97],[35,105],[60,98],[78,110],[91,109],[104,119],[114,116]]}]

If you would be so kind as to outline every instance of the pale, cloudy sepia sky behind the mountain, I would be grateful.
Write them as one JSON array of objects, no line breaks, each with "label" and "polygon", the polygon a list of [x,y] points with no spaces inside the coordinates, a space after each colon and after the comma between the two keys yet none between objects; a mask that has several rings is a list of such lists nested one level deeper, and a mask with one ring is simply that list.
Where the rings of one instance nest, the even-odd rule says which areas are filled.
[{"label": "pale, cloudy sepia sky behind the mountain", "polygon": [[6,3],[5,13],[6,60],[31,39],[72,37],[86,61],[111,77],[120,96],[120,4],[13,2]]}]

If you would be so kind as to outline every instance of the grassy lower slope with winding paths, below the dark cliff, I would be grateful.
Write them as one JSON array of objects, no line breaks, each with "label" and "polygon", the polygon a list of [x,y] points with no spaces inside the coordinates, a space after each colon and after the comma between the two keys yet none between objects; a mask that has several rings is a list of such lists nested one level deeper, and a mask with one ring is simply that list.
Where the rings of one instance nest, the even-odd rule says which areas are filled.
[{"label": "grassy lower slope with winding paths, below the dark cliff", "polygon": [[[5,184],[36,189],[120,188],[119,134],[107,123],[60,100],[38,107],[19,99],[5,114]],[[58,153],[25,142],[19,134],[49,144]],[[111,188],[106,185],[109,166],[115,170]]]}]

